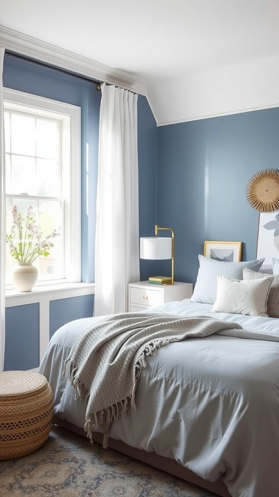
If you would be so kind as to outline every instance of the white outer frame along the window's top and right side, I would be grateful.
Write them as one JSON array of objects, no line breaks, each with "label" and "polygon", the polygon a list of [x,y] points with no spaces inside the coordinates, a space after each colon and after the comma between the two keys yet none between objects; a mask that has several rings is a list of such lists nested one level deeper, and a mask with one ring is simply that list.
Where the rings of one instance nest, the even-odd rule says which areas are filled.
[{"label": "white outer frame along the window's top and right side", "polygon": [[[62,197],[65,199],[65,279],[57,283],[81,280],[81,109],[57,100],[3,88],[4,110],[24,106],[41,115],[61,119],[62,123]],[[26,110],[27,109],[27,110]],[[53,285],[55,281],[40,282]]]}]

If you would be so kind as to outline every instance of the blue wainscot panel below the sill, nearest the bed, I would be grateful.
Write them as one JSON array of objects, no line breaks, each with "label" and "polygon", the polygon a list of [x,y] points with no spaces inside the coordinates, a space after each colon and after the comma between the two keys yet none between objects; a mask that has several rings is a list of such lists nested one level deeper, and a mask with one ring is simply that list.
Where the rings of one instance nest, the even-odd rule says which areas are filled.
[{"label": "blue wainscot panel below the sill, nearest the bed", "polygon": [[81,295],[50,302],[50,338],[58,328],[75,319],[93,316],[94,295]]}]

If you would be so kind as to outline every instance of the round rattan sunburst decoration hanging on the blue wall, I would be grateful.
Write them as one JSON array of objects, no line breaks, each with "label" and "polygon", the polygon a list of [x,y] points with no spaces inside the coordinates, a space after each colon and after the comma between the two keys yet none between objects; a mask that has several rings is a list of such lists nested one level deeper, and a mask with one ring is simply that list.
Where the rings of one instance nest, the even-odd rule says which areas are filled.
[{"label": "round rattan sunburst decoration hanging on the blue wall", "polygon": [[260,212],[279,208],[279,170],[263,169],[252,176],[246,187],[249,204]]}]

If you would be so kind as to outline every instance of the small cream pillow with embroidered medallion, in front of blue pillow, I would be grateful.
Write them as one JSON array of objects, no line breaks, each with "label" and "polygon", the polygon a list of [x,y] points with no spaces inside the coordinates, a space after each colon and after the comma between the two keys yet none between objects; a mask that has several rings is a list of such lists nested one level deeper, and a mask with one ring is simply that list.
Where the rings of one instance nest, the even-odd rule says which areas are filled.
[{"label": "small cream pillow with embroidered medallion, in front of blue pillow", "polygon": [[267,303],[273,276],[238,280],[217,274],[217,296],[210,312],[268,318]]}]

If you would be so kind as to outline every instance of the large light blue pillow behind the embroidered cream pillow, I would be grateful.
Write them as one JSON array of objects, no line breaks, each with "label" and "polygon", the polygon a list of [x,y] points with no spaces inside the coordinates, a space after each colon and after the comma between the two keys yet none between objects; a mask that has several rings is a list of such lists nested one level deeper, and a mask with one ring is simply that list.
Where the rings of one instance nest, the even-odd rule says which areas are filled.
[{"label": "large light blue pillow behind the embroidered cream pillow", "polygon": [[192,302],[213,304],[216,300],[217,274],[223,274],[229,278],[243,279],[243,267],[259,271],[265,259],[246,260],[243,262],[227,262],[223,260],[210,259],[199,255],[200,268],[191,297]]}]

